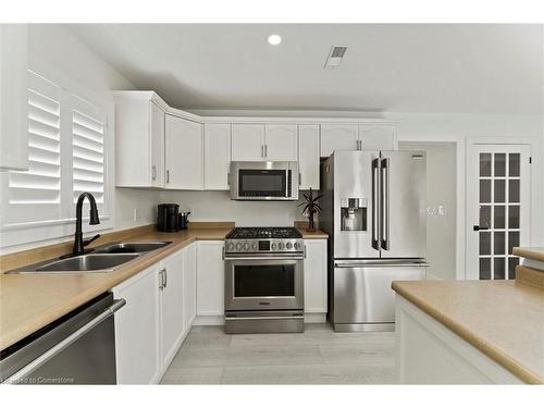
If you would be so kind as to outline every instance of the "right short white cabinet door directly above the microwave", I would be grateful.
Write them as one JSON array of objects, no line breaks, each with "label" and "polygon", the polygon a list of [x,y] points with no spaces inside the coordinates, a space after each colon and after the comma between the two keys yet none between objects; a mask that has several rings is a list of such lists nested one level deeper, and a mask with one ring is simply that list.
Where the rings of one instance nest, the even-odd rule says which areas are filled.
[{"label": "right short white cabinet door directly above the microwave", "polygon": [[267,124],[264,126],[264,157],[270,161],[297,161],[297,125]]}]

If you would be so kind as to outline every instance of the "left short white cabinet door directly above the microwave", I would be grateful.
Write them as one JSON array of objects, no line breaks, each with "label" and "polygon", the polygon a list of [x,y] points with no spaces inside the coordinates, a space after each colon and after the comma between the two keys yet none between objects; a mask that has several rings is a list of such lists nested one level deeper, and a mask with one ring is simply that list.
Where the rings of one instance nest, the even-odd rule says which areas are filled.
[{"label": "left short white cabinet door directly above the microwave", "polygon": [[264,125],[235,123],[232,133],[233,161],[264,160]]}]

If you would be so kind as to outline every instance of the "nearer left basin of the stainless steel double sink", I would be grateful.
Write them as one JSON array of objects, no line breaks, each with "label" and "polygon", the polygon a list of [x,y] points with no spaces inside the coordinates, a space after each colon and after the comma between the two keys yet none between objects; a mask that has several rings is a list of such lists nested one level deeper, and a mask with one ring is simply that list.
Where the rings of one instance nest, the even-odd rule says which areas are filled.
[{"label": "nearer left basin of the stainless steel double sink", "polygon": [[7,273],[55,273],[55,272],[111,272],[115,268],[139,257],[139,254],[90,254],[38,265],[21,268]]}]

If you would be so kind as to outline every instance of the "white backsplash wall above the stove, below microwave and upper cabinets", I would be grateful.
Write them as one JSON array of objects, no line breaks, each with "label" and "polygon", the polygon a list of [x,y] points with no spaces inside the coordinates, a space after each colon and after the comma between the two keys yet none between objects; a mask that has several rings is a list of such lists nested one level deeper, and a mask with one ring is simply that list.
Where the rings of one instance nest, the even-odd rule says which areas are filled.
[{"label": "white backsplash wall above the stove, below microwave and upper cabinets", "polygon": [[302,200],[234,201],[230,191],[161,191],[161,202],[190,210],[189,221],[234,221],[236,226],[290,226],[306,220],[297,207]]}]

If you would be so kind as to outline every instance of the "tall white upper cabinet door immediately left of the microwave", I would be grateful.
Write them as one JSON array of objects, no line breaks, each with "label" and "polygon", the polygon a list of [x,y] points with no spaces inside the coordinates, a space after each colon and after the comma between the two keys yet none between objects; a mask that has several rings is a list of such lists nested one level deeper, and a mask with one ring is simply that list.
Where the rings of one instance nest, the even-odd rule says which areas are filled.
[{"label": "tall white upper cabinet door immediately left of the microwave", "polygon": [[205,189],[230,189],[231,125],[205,125]]}]

